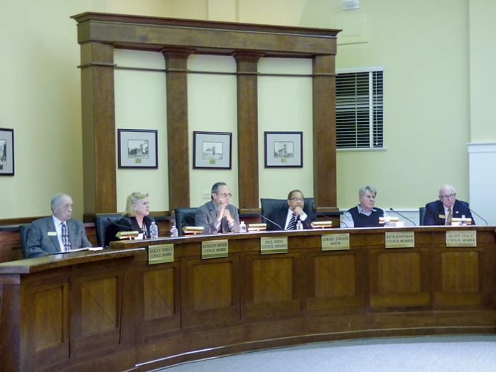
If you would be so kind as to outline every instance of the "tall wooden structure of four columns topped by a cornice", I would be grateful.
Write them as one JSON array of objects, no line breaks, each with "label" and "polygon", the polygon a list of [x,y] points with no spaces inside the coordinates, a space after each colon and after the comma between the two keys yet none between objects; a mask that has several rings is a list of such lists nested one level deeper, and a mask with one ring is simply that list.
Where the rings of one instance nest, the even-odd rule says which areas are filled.
[{"label": "tall wooden structure of four columns topped by a cornice", "polygon": [[99,13],[72,18],[78,23],[83,67],[87,218],[95,212],[115,212],[114,48],[162,52],[167,60],[170,210],[190,206],[187,56],[201,53],[237,59],[237,166],[242,213],[258,212],[259,205],[257,61],[261,56],[313,58],[314,198],[320,212],[337,210],[334,58],[339,30]]}]

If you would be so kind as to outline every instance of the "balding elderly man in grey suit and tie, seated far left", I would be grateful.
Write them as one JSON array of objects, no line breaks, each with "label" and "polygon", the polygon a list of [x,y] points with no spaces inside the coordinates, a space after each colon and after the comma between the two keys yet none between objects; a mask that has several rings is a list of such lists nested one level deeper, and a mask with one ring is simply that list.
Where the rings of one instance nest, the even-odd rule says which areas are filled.
[{"label": "balding elderly man in grey suit and tie, seated far left", "polygon": [[91,247],[83,224],[71,219],[72,205],[72,198],[67,194],[57,194],[52,198],[51,217],[36,219],[31,223],[27,258]]}]

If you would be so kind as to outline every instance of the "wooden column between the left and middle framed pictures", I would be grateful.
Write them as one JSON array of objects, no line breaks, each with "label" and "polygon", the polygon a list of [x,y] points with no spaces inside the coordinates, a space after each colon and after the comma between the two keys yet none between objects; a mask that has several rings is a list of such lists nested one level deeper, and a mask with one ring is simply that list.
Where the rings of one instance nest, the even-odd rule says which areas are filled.
[{"label": "wooden column between the left and middle framed pictures", "polygon": [[167,154],[170,211],[190,206],[187,58],[193,51],[190,48],[162,50],[167,66]]}]

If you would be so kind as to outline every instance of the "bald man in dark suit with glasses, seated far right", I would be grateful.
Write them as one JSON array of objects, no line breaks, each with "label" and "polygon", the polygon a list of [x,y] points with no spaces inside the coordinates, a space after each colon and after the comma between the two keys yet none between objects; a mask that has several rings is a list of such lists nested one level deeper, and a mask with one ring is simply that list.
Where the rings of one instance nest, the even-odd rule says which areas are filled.
[{"label": "bald man in dark suit with glasses, seated far right", "polygon": [[439,200],[425,205],[423,224],[450,225],[452,218],[461,218],[462,216],[472,219],[472,224],[475,224],[468,203],[456,200],[455,187],[443,185],[439,189]]}]

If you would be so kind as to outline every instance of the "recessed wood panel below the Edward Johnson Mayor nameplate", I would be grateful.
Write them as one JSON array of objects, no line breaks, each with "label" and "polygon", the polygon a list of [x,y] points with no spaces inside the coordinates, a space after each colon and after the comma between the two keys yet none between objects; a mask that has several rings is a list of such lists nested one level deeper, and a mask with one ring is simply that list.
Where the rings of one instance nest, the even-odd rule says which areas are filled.
[{"label": "recessed wood panel below the Edward Johnson Mayor nameplate", "polygon": [[356,295],[354,255],[315,257],[314,264],[316,297]]}]

